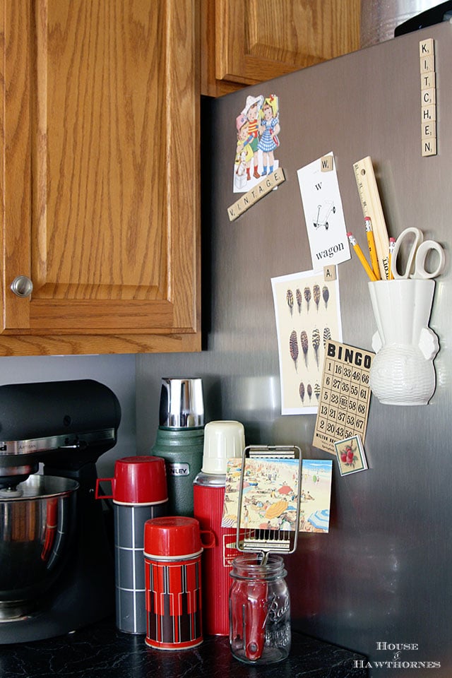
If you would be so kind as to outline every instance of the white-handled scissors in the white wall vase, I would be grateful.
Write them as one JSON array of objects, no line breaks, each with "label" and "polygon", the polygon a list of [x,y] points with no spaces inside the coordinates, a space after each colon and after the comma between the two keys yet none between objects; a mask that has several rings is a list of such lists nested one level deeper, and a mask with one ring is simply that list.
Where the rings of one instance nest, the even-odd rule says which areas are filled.
[{"label": "white-handled scissors in the white wall vase", "polygon": [[[406,243],[410,243],[407,245]],[[399,273],[397,270],[400,247],[405,243],[408,246],[408,259],[405,266],[405,272]],[[439,256],[438,266],[435,270],[427,270],[426,260],[430,252],[435,251]],[[394,251],[391,257],[391,271],[396,280],[408,280],[408,278],[415,278],[417,280],[428,280],[429,278],[436,278],[444,268],[446,256],[444,249],[436,240],[424,240],[422,231],[418,228],[405,228],[396,240]]]}]

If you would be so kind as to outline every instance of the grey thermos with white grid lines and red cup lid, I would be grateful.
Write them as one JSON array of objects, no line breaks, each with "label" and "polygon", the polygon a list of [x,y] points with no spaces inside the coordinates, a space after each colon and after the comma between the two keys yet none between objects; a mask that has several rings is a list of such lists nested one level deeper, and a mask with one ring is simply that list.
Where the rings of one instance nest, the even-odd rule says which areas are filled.
[{"label": "grey thermos with white grid lines and red cup lid", "polygon": [[[101,480],[111,482],[112,494],[98,494]],[[114,506],[117,628],[145,634],[144,525],[167,513],[165,460],[154,456],[118,459],[114,477],[97,481],[96,498],[112,499]]]}]

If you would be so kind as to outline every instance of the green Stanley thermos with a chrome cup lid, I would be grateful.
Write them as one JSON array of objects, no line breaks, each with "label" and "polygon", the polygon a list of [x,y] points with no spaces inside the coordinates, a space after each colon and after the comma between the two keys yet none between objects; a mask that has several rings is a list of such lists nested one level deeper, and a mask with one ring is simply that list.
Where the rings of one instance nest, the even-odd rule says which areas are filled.
[{"label": "green Stanley thermos with a chrome cup lid", "polygon": [[203,383],[199,378],[162,378],[159,427],[151,454],[165,459],[168,516],[193,516],[193,482],[204,446]]}]

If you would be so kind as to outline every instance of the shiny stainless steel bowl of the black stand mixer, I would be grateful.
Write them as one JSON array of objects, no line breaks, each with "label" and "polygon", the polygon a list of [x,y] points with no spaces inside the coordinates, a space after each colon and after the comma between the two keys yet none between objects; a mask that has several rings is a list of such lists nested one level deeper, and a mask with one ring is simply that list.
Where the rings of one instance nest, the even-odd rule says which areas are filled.
[{"label": "shiny stainless steel bowl of the black stand mixer", "polygon": [[30,475],[0,489],[0,621],[23,616],[57,578],[71,541],[78,482]]}]

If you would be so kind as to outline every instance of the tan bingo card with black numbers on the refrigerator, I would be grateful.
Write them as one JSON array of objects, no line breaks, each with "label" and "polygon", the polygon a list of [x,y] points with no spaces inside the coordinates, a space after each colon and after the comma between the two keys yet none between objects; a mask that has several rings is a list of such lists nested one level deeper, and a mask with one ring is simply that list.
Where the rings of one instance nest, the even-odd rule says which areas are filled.
[{"label": "tan bingo card with black numbers on the refrigerator", "polygon": [[328,341],[314,446],[335,454],[334,444],[337,441],[359,435],[364,443],[373,356],[373,353]]}]

